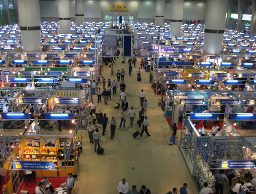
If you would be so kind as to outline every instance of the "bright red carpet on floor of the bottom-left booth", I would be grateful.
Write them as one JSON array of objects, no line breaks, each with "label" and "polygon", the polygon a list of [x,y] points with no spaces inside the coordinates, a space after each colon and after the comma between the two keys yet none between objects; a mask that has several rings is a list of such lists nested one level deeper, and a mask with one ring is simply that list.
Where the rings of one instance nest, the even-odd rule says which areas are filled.
[{"label": "bright red carpet on floor of the bottom-left booth", "polygon": [[[43,177],[36,178],[37,183],[40,182],[41,180],[43,180]],[[65,178],[49,177],[48,180],[49,180],[49,182],[52,183],[54,191],[55,191],[55,188],[60,187],[60,184],[65,182]],[[37,183],[35,183],[34,179],[31,179],[31,178],[29,180],[27,179],[27,186],[24,181],[23,184],[21,185],[20,189],[18,190],[17,194],[20,194],[21,190],[28,191],[29,194],[35,193],[35,188],[37,186]]]}]

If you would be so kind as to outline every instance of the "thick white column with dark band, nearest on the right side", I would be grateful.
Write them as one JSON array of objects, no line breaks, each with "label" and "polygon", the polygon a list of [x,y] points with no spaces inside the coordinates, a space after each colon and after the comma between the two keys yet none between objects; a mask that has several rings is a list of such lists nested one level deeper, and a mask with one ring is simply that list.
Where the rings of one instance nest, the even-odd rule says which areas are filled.
[{"label": "thick white column with dark band, nearest on the right side", "polygon": [[207,0],[204,54],[220,54],[228,0]]}]

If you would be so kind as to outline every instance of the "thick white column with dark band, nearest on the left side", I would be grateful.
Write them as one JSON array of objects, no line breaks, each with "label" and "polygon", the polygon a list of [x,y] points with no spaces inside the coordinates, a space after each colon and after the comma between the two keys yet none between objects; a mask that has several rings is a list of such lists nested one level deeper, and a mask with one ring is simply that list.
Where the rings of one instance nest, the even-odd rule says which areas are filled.
[{"label": "thick white column with dark band, nearest on the left side", "polygon": [[19,26],[24,52],[41,51],[39,0],[18,0]]}]

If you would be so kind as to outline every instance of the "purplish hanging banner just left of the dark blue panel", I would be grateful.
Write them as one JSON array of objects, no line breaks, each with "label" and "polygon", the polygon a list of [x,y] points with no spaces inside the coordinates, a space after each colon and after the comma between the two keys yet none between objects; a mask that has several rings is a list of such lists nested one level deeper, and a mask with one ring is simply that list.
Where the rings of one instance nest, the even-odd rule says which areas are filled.
[{"label": "purplish hanging banner just left of the dark blue panel", "polygon": [[104,36],[102,56],[117,56],[117,36]]}]

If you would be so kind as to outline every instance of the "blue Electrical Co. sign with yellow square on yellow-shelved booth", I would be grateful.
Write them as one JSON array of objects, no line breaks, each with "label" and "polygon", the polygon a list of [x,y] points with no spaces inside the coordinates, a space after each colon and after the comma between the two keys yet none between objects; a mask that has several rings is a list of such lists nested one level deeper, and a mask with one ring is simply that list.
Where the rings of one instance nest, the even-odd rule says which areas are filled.
[{"label": "blue Electrical Co. sign with yellow square on yellow-shelved booth", "polygon": [[13,161],[13,169],[54,170],[54,162],[48,161]]}]

